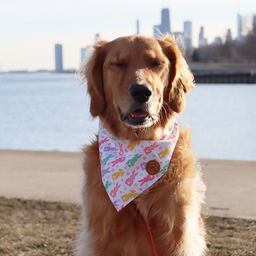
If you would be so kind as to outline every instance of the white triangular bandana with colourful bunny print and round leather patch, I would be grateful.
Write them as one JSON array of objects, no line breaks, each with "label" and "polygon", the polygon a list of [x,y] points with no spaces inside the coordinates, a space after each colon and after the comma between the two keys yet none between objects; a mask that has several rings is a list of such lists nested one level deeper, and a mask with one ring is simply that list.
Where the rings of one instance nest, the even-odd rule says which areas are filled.
[{"label": "white triangular bandana with colourful bunny print and round leather patch", "polygon": [[178,124],[162,140],[118,139],[99,124],[102,182],[116,210],[121,210],[166,173],[178,140]]}]

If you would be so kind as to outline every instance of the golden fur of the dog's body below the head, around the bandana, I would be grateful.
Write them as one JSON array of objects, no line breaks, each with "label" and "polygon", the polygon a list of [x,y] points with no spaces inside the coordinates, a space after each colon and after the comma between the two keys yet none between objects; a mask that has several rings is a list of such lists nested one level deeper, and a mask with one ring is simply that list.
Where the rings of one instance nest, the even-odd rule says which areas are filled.
[{"label": "golden fur of the dog's body below the head, around the bandana", "polygon": [[[148,228],[135,203],[130,202],[116,212],[106,194],[98,159],[98,141],[87,146],[84,153],[83,217],[87,223],[84,228],[90,236],[87,250],[92,250],[91,255],[154,255]],[[195,165],[190,150],[190,132],[181,131],[166,175],[136,199],[150,224],[159,256],[196,256],[202,255],[205,249],[201,246],[204,227],[199,212],[204,185]],[[196,223],[191,226],[188,218],[194,218]],[[186,236],[194,236],[193,244],[188,244],[191,239],[185,240]],[[198,249],[191,254],[190,247]]]}]

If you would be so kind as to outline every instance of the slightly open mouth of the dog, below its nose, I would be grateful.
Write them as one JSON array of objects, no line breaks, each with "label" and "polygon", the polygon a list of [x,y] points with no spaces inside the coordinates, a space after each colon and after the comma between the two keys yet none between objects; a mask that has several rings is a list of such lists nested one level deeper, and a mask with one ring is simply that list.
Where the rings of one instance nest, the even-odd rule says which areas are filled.
[{"label": "slightly open mouth of the dog, below its nose", "polygon": [[156,115],[150,115],[142,108],[137,108],[131,111],[129,114],[122,113],[118,108],[121,121],[125,121],[130,126],[147,126],[151,121],[156,119]]}]

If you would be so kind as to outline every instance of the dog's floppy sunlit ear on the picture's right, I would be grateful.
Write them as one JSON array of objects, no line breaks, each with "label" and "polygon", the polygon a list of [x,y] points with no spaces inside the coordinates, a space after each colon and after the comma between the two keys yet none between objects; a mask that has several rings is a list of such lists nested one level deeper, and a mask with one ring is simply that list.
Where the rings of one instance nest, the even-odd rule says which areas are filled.
[{"label": "dog's floppy sunlit ear on the picture's right", "polygon": [[194,76],[182,57],[174,38],[167,36],[164,39],[164,48],[170,60],[168,98],[166,100],[173,111],[180,113],[186,105],[186,94],[194,88]]}]

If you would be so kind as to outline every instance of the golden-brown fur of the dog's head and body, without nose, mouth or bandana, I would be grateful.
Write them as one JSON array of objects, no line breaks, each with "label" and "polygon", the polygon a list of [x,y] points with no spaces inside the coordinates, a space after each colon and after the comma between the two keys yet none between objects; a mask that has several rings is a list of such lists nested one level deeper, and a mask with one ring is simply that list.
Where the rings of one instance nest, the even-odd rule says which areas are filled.
[{"label": "golden-brown fur of the dog's head and body, without nose, mouth or bandana", "polygon": [[[90,95],[90,113],[99,116],[115,136],[159,140],[185,108],[194,87],[174,39],[127,36],[100,40],[81,68]],[[138,126],[124,121],[138,108],[130,97],[132,84],[146,84],[152,95],[141,108],[150,118]],[[142,110],[141,110],[142,111]],[[150,225],[158,256],[199,256],[206,252],[201,203],[204,183],[191,152],[190,131],[180,136],[167,172],[135,201]],[[150,234],[132,201],[117,212],[102,183],[98,138],[84,148],[82,232],[78,256],[151,256]]]}]

